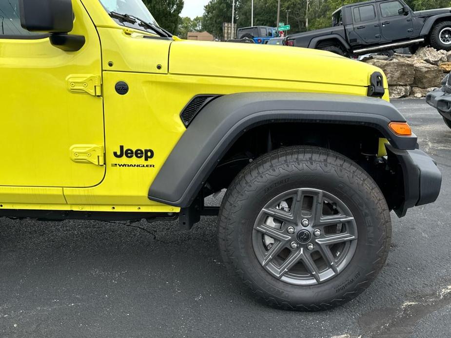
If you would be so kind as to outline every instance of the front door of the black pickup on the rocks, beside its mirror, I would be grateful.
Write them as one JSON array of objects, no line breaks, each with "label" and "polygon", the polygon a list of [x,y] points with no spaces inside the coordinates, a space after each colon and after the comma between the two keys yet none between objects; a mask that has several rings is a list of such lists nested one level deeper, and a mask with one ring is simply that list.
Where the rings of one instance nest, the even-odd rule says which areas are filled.
[{"label": "front door of the black pickup on the rocks, beside its mirror", "polygon": [[379,13],[382,36],[389,41],[413,35],[412,13],[403,12],[404,4],[398,0],[380,2]]}]

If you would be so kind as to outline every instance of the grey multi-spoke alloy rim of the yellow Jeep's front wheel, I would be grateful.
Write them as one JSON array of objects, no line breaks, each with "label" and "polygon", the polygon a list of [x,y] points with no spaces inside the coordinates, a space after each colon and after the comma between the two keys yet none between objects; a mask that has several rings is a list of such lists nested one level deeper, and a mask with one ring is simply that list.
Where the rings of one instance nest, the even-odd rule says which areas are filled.
[{"label": "grey multi-spoke alloy rim of the yellow Jeep's front wheel", "polygon": [[314,285],[337,276],[351,262],[357,225],[336,196],[298,188],[281,193],[261,209],[252,244],[258,262],[276,279]]}]

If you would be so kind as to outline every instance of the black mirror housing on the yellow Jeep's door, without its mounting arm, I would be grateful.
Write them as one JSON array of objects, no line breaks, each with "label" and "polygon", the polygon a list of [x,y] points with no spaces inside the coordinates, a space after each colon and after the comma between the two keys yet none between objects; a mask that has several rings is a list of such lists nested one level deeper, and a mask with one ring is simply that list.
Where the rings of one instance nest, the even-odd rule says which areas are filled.
[{"label": "black mirror housing on the yellow Jeep's door, without its mounting arm", "polygon": [[69,33],[74,28],[71,0],[19,0],[20,25],[30,32]]}]

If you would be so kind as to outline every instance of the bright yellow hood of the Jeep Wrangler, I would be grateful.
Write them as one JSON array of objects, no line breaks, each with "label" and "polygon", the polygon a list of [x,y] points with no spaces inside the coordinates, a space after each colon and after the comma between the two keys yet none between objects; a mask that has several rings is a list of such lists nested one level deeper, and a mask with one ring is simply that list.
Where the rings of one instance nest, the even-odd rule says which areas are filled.
[{"label": "bright yellow hood of the Jeep Wrangler", "polygon": [[169,73],[368,86],[377,67],[306,48],[176,40]]}]

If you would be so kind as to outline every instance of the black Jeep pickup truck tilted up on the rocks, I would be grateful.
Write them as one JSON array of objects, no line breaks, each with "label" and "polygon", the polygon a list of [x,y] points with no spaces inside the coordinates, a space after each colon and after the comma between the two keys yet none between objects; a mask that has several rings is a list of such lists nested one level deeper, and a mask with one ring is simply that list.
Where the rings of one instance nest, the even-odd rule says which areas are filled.
[{"label": "black Jeep pickup truck tilted up on the rocks", "polygon": [[403,0],[370,0],[333,13],[331,28],[290,35],[288,46],[345,56],[422,45],[451,50],[451,9],[414,12]]}]

